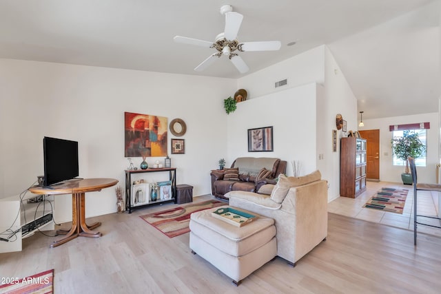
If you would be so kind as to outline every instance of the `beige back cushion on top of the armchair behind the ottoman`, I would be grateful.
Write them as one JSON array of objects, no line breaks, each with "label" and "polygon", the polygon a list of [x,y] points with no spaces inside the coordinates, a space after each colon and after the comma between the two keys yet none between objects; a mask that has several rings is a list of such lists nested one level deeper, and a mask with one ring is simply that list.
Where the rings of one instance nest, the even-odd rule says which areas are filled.
[{"label": "beige back cushion on top of the armchair behind the ottoman", "polygon": [[315,182],[316,180],[320,180],[321,178],[322,175],[318,170],[312,172],[311,174],[298,178],[287,177],[284,174],[280,174],[278,176],[276,187],[274,187],[273,191],[271,192],[271,200],[277,203],[282,203],[287,196],[289,188],[306,185],[309,182]]}]

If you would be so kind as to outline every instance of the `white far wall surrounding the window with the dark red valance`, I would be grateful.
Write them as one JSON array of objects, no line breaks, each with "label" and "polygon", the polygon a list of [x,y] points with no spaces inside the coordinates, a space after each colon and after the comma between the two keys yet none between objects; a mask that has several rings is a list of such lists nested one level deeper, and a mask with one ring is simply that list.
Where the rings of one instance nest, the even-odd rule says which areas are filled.
[{"label": "white far wall surrounding the window with the dark red valance", "polygon": [[404,167],[392,165],[392,132],[389,132],[389,125],[429,122],[431,128],[427,129],[427,166],[417,167],[418,182],[435,182],[435,165],[439,163],[438,142],[440,130],[438,129],[438,120],[438,112],[363,120],[365,126],[360,127],[360,130],[380,129],[380,180],[402,182],[401,174],[404,172]]}]

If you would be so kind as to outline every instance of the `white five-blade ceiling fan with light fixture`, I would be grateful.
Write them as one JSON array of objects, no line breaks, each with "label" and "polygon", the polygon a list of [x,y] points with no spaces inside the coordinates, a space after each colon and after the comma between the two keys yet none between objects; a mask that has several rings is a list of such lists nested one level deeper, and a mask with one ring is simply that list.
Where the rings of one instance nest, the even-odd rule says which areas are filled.
[{"label": "white five-blade ceiling fan with light fixture", "polygon": [[225,30],[218,34],[213,42],[203,41],[198,39],[187,38],[186,36],[175,36],[173,39],[176,43],[184,43],[189,45],[197,45],[206,48],[214,48],[218,52],[210,55],[200,65],[196,66],[196,72],[202,72],[207,69],[209,65],[216,61],[216,57],[222,55],[228,56],[233,65],[240,73],[245,73],[249,67],[236,52],[247,51],[271,51],[279,50],[280,41],[260,41],[260,42],[245,42],[240,43],[236,38],[243,20],[243,15],[238,12],[233,12],[231,5],[224,5],[220,8],[220,14],[225,14]]}]

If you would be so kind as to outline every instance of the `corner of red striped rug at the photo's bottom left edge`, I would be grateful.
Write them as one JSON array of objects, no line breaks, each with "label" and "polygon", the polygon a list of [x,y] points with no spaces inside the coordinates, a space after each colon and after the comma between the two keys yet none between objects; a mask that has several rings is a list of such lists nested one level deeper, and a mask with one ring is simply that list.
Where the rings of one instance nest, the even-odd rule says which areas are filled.
[{"label": "corner of red striped rug at the photo's bottom left edge", "polygon": [[54,270],[43,271],[30,277],[3,277],[6,284],[0,284],[0,293],[53,293]]}]

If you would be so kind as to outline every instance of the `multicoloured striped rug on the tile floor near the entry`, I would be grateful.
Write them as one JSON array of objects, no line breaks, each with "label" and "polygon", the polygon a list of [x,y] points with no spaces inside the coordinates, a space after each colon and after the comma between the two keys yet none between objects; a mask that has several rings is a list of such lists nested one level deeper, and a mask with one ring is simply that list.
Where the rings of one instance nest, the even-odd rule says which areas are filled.
[{"label": "multicoloured striped rug on the tile floor near the entry", "polygon": [[382,188],[363,207],[402,214],[408,192],[407,189]]}]

